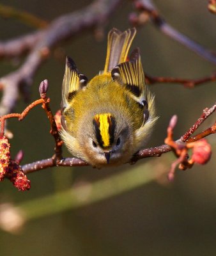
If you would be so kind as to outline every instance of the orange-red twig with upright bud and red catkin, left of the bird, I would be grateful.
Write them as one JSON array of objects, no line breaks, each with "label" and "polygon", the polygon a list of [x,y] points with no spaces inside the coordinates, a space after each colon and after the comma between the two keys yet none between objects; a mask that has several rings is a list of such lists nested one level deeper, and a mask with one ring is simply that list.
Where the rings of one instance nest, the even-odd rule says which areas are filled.
[{"label": "orange-red twig with upright bud and red catkin, left of the bird", "polygon": [[50,99],[47,98],[47,90],[48,90],[48,81],[44,80],[39,86],[39,92],[41,99],[35,100],[33,103],[29,104],[22,113],[11,113],[8,115],[4,115],[0,117],[1,122],[1,131],[0,131],[0,181],[4,180],[4,178],[8,178],[13,182],[13,185],[21,190],[25,191],[30,188],[30,180],[27,179],[24,171],[19,166],[20,161],[22,160],[23,153],[19,152],[15,157],[15,160],[10,157],[10,143],[8,142],[8,138],[4,136],[4,123],[8,118],[18,118],[19,121],[23,120],[29,111],[38,104],[42,104],[42,108],[47,113],[47,116],[50,121],[50,133],[54,136],[56,141],[55,154],[52,157],[53,164],[58,164],[60,159],[62,159],[61,155],[61,145],[62,141],[58,133],[58,129],[56,127],[56,122],[54,120],[54,116],[49,107]]}]

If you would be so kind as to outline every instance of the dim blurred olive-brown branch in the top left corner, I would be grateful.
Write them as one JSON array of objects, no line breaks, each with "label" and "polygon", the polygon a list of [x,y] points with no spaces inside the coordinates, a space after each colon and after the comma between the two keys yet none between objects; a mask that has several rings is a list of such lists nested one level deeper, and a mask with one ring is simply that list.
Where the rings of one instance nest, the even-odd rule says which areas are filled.
[{"label": "dim blurred olive-brown branch in the top left corner", "polygon": [[4,18],[14,18],[20,20],[21,22],[35,28],[45,28],[48,25],[45,20],[39,19],[31,13],[17,10],[16,8],[4,4],[0,4],[0,15]]}]

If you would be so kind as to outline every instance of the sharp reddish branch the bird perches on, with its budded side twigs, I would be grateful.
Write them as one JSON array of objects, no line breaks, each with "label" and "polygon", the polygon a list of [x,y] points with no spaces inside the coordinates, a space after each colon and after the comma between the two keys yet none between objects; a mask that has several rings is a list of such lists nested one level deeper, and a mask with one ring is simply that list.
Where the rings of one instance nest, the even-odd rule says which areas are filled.
[{"label": "sharp reddish branch the bird perches on, with its budded side twigs", "polygon": [[[49,107],[50,99],[47,98],[47,95],[46,95],[47,90],[48,90],[47,80],[42,81],[42,83],[40,84],[40,87],[39,87],[39,92],[40,92],[41,99],[35,100],[35,102],[33,102],[32,104],[27,106],[27,108],[24,109],[24,111],[21,114],[12,113],[12,114],[1,116],[1,118],[0,118],[0,122],[1,122],[0,136],[3,137],[3,135],[4,135],[4,120],[6,120],[7,118],[12,118],[12,117],[13,118],[14,117],[19,118],[19,120],[22,120],[27,115],[27,113],[29,113],[29,111],[38,104],[42,104],[43,109],[45,109],[45,113],[47,114],[47,116],[49,118],[49,122],[50,122],[50,127],[51,127],[50,133],[54,137],[54,140],[55,140],[55,143],[56,143],[56,146],[55,146],[55,149],[54,149],[55,154],[54,154],[53,157],[51,157],[49,159],[43,159],[43,160],[40,160],[40,161],[36,161],[34,163],[24,164],[22,166],[22,170],[25,174],[26,173],[31,173],[31,172],[36,172],[37,170],[42,170],[42,169],[45,169],[47,167],[52,167],[52,166],[86,166],[86,165],[88,165],[88,163],[86,163],[82,159],[78,159],[78,158],[75,158],[75,157],[64,159],[62,157],[62,155],[61,155],[62,141],[61,141],[61,138],[59,136],[58,129],[56,127],[56,122],[54,120],[54,116],[52,115],[52,112],[51,112],[50,107]],[[216,124],[212,125],[212,127],[210,127],[209,129],[206,129],[205,131],[201,132],[200,134],[197,134],[197,136],[193,136],[193,137],[191,137],[191,136],[197,130],[199,125],[201,125],[204,122],[204,120],[206,120],[206,118],[208,118],[208,116],[212,115],[212,113],[215,112],[215,109],[216,109],[216,104],[214,106],[212,106],[212,108],[204,109],[203,114],[201,115],[201,117],[189,129],[189,131],[187,131],[181,137],[181,140],[178,140],[178,141],[173,141],[173,128],[174,128],[174,125],[176,124],[176,118],[173,118],[171,120],[170,124],[169,124],[169,127],[168,127],[168,140],[166,141],[167,144],[166,145],[161,145],[159,147],[145,148],[143,150],[140,150],[130,160],[130,163],[135,163],[136,161],[138,161],[140,159],[143,159],[145,157],[161,156],[162,154],[164,154],[166,152],[169,152],[169,151],[174,149],[175,150],[174,152],[175,152],[176,156],[178,156],[179,158],[178,158],[177,161],[175,161],[173,166],[176,166],[176,164],[178,164],[178,163],[183,163],[184,164],[183,166],[189,167],[189,164],[186,165],[185,157],[187,155],[188,148],[194,147],[194,146],[191,146],[191,145],[194,145],[194,144],[189,143],[189,141],[200,140],[204,136],[215,133]],[[183,144],[184,141],[187,141],[187,145],[190,145],[190,146],[187,146],[186,149],[183,150],[184,147],[182,147],[182,145],[185,145],[185,143]],[[22,159],[22,153],[18,154],[16,159],[17,159],[17,163],[20,163],[20,161]],[[172,169],[172,170],[173,171],[171,173],[174,173],[174,169]]]}]

